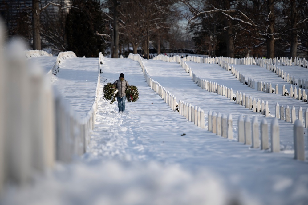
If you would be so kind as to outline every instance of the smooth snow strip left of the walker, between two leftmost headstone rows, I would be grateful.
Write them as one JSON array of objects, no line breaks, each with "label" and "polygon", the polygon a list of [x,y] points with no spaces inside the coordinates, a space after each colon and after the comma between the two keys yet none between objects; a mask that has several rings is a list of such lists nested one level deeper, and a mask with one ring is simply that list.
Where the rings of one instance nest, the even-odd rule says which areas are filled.
[{"label": "smooth snow strip left of the walker, between two leftmost headstone rows", "polygon": [[80,116],[92,107],[98,79],[98,58],[67,58],[59,65],[55,85]]}]

